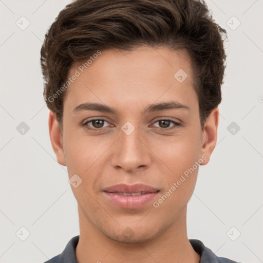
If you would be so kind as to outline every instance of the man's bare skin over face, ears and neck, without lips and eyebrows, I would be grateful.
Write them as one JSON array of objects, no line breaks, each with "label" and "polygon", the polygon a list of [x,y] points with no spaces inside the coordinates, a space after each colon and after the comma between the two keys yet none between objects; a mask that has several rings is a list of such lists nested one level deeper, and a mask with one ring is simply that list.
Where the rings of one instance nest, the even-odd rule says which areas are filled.
[{"label": "man's bare skin over face, ears and neck, without lips and eyebrows", "polygon": [[[76,69],[77,64],[69,76]],[[188,75],[182,83],[174,78],[178,69]],[[77,174],[83,180],[77,188],[71,186],[78,202],[79,263],[200,261],[186,230],[187,202],[198,168],[158,208],[152,201],[140,209],[119,208],[102,193],[104,187],[118,183],[143,183],[160,190],[153,200],[158,201],[196,161],[209,162],[219,112],[211,111],[202,130],[192,76],[189,55],[183,50],[149,46],[106,50],[67,88],[63,134],[50,111],[50,139],[58,162],[67,166],[69,178]],[[143,113],[153,103],[171,100],[189,109]],[[73,112],[86,102],[114,107],[117,114]],[[181,125],[160,122],[166,118]],[[90,119],[106,121],[81,125]],[[135,127],[130,135],[121,129],[127,121]]]}]

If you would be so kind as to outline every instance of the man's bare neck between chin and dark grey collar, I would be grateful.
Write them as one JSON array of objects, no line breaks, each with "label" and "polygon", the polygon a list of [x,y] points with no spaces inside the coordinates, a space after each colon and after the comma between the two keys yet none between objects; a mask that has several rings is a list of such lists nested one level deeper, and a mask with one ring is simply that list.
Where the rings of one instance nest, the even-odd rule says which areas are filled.
[{"label": "man's bare neck between chin and dark grey collar", "polygon": [[167,262],[199,263],[186,230],[186,207],[177,220],[161,234],[144,242],[113,240],[92,224],[79,209],[80,239],[76,248],[79,263],[91,262]]}]

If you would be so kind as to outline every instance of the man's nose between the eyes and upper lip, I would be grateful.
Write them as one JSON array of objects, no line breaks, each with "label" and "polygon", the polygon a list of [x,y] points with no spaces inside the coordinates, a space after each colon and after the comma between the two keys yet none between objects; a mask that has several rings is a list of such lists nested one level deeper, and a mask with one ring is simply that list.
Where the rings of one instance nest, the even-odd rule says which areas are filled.
[{"label": "man's nose between the eyes and upper lip", "polygon": [[138,168],[146,168],[151,164],[151,151],[145,136],[136,127],[131,134],[120,130],[120,138],[115,143],[112,166],[123,169],[127,173],[136,172]]}]

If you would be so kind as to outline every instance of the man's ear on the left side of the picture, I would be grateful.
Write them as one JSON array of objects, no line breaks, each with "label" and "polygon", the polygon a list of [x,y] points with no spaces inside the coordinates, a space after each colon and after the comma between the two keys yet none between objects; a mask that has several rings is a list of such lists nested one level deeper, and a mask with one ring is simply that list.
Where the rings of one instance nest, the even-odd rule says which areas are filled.
[{"label": "man's ear on the left side of the picture", "polygon": [[50,141],[52,144],[53,151],[57,156],[58,163],[66,166],[61,130],[58,121],[54,116],[54,112],[51,110],[49,112],[48,127]]}]

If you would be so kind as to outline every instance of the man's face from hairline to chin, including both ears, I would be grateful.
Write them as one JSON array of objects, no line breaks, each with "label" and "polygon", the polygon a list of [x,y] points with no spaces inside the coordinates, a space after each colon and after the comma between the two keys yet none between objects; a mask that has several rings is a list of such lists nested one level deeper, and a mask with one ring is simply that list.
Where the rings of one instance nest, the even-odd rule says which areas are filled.
[{"label": "man's face from hairline to chin, including both ears", "polygon": [[[69,73],[80,75],[66,91],[63,136],[52,117],[50,136],[69,178],[77,175],[71,188],[80,221],[122,242],[180,226],[198,163],[206,164],[215,146],[218,116],[216,109],[201,129],[189,56],[141,46],[102,51],[79,66]],[[148,188],[129,187],[136,184]]]}]

